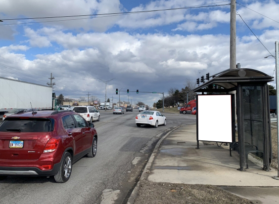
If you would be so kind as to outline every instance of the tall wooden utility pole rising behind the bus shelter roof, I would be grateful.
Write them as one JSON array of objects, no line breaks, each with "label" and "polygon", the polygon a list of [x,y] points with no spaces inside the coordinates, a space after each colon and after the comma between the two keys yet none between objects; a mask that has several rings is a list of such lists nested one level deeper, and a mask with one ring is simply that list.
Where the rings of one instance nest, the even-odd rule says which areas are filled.
[{"label": "tall wooden utility pole rising behind the bus shelter roof", "polygon": [[236,65],[236,0],[231,0],[230,69]]}]

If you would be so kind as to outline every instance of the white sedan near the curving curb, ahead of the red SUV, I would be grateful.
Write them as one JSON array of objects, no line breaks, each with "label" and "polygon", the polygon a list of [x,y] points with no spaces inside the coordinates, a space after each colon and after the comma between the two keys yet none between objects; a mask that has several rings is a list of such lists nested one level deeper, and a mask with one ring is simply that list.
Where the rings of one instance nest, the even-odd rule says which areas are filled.
[{"label": "white sedan near the curving curb, ahead of the red SUV", "polygon": [[159,124],[166,125],[167,119],[159,111],[142,111],[136,116],[136,124],[138,127],[142,124],[150,124],[156,128]]}]

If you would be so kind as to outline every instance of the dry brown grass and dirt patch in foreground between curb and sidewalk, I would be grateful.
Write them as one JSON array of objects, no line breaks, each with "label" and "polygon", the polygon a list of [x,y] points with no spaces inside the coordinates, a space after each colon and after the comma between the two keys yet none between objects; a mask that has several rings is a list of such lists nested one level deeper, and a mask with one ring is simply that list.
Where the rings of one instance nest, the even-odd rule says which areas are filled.
[{"label": "dry brown grass and dirt patch in foreground between curb and sidewalk", "polygon": [[217,186],[173,183],[140,183],[135,204],[252,204]]}]

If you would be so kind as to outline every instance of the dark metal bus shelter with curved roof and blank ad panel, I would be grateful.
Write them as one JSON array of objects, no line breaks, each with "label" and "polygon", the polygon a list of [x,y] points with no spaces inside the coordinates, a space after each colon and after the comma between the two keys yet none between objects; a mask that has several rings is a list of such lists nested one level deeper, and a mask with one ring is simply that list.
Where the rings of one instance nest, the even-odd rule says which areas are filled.
[{"label": "dark metal bus shelter with curved roof and blank ad panel", "polygon": [[[196,98],[197,149],[199,141],[229,142],[230,151],[239,153],[238,170],[244,171],[245,164],[248,168],[249,153],[262,159],[264,170],[270,170],[272,148],[267,82],[272,82],[273,77],[253,69],[225,70],[212,77],[193,89],[201,93]],[[237,137],[232,91],[236,92]],[[212,103],[216,105],[212,107]]]}]

